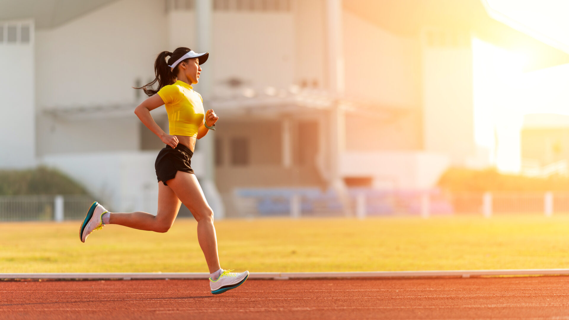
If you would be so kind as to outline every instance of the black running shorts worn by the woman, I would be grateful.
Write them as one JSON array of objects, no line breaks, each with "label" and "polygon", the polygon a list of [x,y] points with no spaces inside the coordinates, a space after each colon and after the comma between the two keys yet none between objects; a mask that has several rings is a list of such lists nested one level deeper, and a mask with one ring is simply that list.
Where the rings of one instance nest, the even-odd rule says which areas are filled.
[{"label": "black running shorts worn by the woman", "polygon": [[166,145],[166,147],[160,150],[158,157],[156,157],[156,162],[154,162],[154,169],[156,169],[156,178],[158,178],[158,181],[162,181],[164,186],[167,186],[166,181],[174,179],[176,172],[184,171],[193,173],[190,167],[192,155],[192,150],[189,150],[189,148],[182,143],[178,143],[176,149],[172,149],[171,146]]}]

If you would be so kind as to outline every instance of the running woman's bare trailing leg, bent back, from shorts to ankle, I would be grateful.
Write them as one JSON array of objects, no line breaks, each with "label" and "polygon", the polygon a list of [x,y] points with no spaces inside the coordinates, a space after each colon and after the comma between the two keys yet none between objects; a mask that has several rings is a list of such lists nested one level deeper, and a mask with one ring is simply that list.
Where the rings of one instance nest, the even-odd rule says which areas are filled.
[{"label": "running woman's bare trailing leg, bent back, from shorts to ankle", "polygon": [[142,211],[130,213],[112,212],[109,216],[109,223],[140,230],[166,232],[172,227],[181,205],[182,202],[174,191],[169,186],[164,186],[162,181],[159,181],[158,212],[155,216]]}]

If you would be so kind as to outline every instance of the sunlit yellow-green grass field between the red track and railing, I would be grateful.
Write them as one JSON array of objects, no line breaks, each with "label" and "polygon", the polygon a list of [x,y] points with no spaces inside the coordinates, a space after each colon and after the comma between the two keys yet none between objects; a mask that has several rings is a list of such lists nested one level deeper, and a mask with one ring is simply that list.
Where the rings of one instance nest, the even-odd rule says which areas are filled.
[{"label": "sunlit yellow-green grass field between the red track and railing", "polygon": [[[251,272],[569,268],[569,216],[216,221],[221,267]],[[0,223],[0,273],[207,272],[196,222],[167,233]]]}]

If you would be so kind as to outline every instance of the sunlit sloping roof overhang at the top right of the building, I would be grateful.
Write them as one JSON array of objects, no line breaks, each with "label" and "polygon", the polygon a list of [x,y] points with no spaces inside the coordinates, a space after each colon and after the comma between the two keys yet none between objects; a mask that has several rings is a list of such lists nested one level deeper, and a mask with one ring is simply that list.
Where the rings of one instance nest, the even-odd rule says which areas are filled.
[{"label": "sunlit sloping roof overhang at the top right of the building", "polygon": [[569,47],[529,32],[492,9],[486,0],[349,0],[343,6],[394,34],[417,38],[424,27],[469,31],[527,56],[526,71],[569,63]]}]

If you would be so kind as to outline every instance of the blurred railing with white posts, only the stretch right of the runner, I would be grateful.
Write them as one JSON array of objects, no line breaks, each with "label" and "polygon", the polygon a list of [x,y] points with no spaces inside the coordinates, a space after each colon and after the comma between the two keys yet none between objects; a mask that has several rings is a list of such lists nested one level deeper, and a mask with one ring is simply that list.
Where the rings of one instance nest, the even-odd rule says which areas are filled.
[{"label": "blurred railing with white posts, only the stretch right of the runner", "polygon": [[[475,214],[542,214],[569,212],[569,192],[461,192],[439,190],[349,190],[349,205],[357,218],[368,216],[422,216]],[[342,204],[332,191],[312,188],[240,189],[232,199],[236,217],[343,216]]]}]

